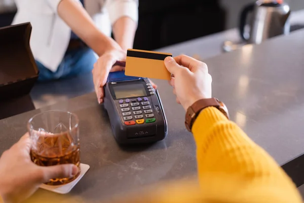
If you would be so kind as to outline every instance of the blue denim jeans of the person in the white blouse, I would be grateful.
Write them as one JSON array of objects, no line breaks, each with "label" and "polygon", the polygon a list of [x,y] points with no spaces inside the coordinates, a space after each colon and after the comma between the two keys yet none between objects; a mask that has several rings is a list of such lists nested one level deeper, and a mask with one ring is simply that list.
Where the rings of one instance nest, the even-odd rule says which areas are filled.
[{"label": "blue denim jeans of the person in the white blouse", "polygon": [[37,67],[40,71],[38,81],[46,82],[64,79],[91,72],[96,61],[96,55],[90,48],[67,51],[56,72],[50,71],[36,60]]}]

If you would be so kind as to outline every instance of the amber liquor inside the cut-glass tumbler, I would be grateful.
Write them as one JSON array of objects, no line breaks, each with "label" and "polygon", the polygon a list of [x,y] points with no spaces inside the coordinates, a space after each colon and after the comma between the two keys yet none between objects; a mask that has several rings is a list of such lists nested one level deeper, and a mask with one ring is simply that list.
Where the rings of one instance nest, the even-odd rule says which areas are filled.
[{"label": "amber liquor inside the cut-glass tumbler", "polygon": [[[80,169],[80,148],[71,142],[68,134],[57,137],[41,137],[36,150],[30,152],[31,160],[40,166],[73,163]],[[79,170],[80,171],[80,170]],[[75,180],[80,172],[72,178],[51,179],[47,185],[63,185]]]}]

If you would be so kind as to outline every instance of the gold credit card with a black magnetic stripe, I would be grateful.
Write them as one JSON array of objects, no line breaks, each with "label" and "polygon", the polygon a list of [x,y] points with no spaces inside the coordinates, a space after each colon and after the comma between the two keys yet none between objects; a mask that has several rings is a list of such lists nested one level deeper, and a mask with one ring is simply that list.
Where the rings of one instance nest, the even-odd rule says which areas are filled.
[{"label": "gold credit card with a black magnetic stripe", "polygon": [[170,80],[171,74],[164,63],[167,56],[172,54],[128,49],[125,75]]}]

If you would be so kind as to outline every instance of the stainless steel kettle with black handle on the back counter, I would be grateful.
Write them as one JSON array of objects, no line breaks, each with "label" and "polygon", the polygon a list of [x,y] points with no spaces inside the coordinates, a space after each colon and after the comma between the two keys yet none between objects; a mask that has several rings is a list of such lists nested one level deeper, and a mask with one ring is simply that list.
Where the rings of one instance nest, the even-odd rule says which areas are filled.
[{"label": "stainless steel kettle with black handle on the back counter", "polygon": [[[245,32],[247,16],[253,13],[250,32]],[[260,44],[264,40],[288,35],[290,32],[290,8],[283,0],[259,0],[244,8],[240,19],[240,35],[250,44]]]}]

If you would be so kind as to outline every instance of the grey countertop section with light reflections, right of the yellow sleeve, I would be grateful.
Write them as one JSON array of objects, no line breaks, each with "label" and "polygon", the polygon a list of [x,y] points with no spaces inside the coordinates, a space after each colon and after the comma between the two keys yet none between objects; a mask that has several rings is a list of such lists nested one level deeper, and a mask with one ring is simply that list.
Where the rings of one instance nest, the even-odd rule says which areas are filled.
[{"label": "grey countertop section with light reflections, right of the yellow sleeve", "polygon": [[206,60],[214,96],[298,186],[304,183],[303,54],[304,30],[299,30]]}]

